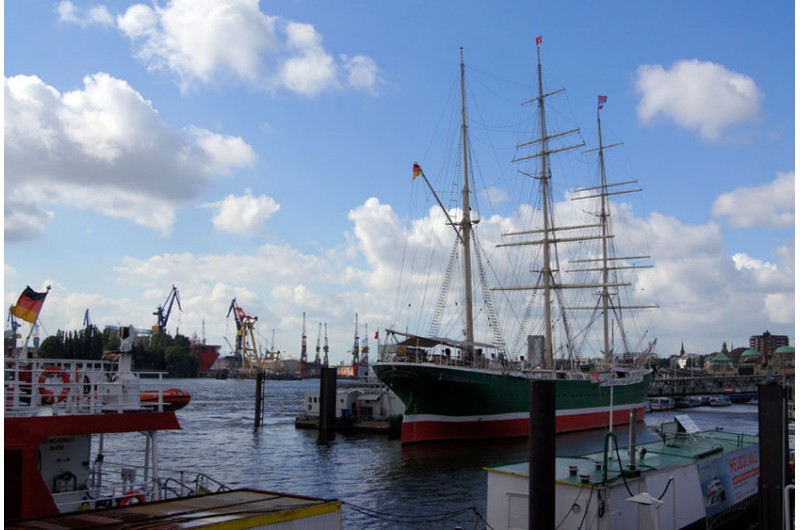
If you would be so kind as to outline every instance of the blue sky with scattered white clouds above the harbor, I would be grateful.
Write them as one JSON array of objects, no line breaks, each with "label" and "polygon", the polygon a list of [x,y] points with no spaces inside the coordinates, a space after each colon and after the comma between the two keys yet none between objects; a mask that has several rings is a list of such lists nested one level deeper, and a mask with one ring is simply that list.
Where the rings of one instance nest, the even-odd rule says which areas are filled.
[{"label": "blue sky with scattered white clouds above the harbor", "polygon": [[[6,1],[6,306],[49,285],[40,337],[87,309],[148,329],[174,285],[168,331],[225,353],[234,298],[261,348],[298,357],[305,313],[309,350],[325,323],[344,361],[358,314],[374,351],[407,325],[409,246],[449,230],[411,166],[448,171],[461,49],[497,191],[542,36],[564,121],[595,145],[606,95],[643,189],[623,217],[650,247],[656,351],[794,344],[794,23],[786,1]],[[482,225],[514,225],[492,196]]]}]

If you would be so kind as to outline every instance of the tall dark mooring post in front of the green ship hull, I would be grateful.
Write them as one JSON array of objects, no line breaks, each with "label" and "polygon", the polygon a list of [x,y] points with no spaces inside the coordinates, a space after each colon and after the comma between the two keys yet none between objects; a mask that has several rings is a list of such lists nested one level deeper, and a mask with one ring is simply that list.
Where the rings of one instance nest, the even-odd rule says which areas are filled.
[{"label": "tall dark mooring post in front of the green ship hull", "polygon": [[[556,527],[556,382],[531,381],[528,529]],[[535,475],[534,475],[535,473]],[[535,477],[535,478],[534,478]]]}]

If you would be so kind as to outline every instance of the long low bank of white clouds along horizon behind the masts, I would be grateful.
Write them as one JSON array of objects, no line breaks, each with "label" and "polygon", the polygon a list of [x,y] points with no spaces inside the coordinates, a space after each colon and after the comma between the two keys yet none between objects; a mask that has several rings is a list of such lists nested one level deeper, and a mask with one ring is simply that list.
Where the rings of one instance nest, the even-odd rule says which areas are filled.
[{"label": "long low bank of white clouds along horizon behind the masts", "polygon": [[[259,211],[254,206],[257,199],[230,204],[245,204]],[[566,215],[566,209],[574,209],[575,204],[560,202],[556,208]],[[508,281],[511,258],[495,248],[496,234],[517,227],[520,218],[529,213],[520,209],[510,217],[492,216],[478,226],[492,272],[501,275],[499,283],[503,285],[514,283]],[[624,206],[614,214],[617,223],[625,225],[624,231],[638,234],[632,240],[617,241],[626,247],[620,252],[627,254],[645,245],[652,255],[654,269],[631,272],[635,273],[632,280],[637,293],[644,290],[646,295],[641,301],[660,306],[643,314],[649,340],[659,338],[660,354],[677,353],[681,342],[687,351],[701,353],[718,349],[723,341],[732,347],[743,346],[747,337],[764,329],[790,334],[794,322],[793,248],[778,249],[775,263],[746,254],[732,259],[724,251],[724,233],[714,223],[685,225],[661,214],[640,218]],[[424,217],[402,222],[391,205],[370,198],[353,208],[348,217],[352,232],[313,254],[289,244],[269,244],[225,255],[184,252],[123,258],[113,267],[111,281],[117,282],[121,292],[128,289],[135,295],[95,300],[87,298],[88,294],[61,293],[54,288],[51,296],[63,296],[69,303],[48,304],[45,321],[51,329],[77,329],[84,308],[91,307],[98,323],[146,327],[152,324],[152,312],[163,301],[167,286],[174,283],[181,292],[183,312],[173,316],[170,328],[180,324],[182,333],[191,334],[204,326],[213,341],[222,342],[221,337],[235,332],[230,319],[224,318],[234,297],[248,314],[259,317],[258,336],[268,337],[275,329],[276,346],[287,355],[297,355],[304,311],[318,311],[307,314],[309,336],[319,322],[328,323],[333,362],[344,360],[344,349],[352,343],[356,312],[362,326],[369,324],[370,334],[375,328],[389,326],[427,332],[430,313],[424,310],[422,299],[427,296],[426,304],[435,302],[441,278],[425,267],[431,265],[441,273],[453,240],[452,228],[444,224],[441,211],[432,208]],[[530,262],[515,268],[524,279],[515,283],[533,282]],[[408,274],[409,269],[414,271],[416,290],[399,289],[399,275]],[[498,283],[495,278],[490,281]],[[455,282],[451,290],[459,290]],[[18,295],[6,293],[6,301],[13,303]],[[452,300],[448,298],[449,306]],[[498,310],[502,309],[500,302]],[[408,304],[416,311],[410,316],[405,311]],[[523,308],[517,306],[518,312]],[[504,311],[500,314],[509,318]],[[484,320],[480,312],[478,319]],[[509,329],[515,329],[513,319],[506,322],[511,323]],[[443,322],[441,331],[458,336],[460,328]],[[359,329],[362,332],[363,328]],[[513,336],[506,339],[512,341]]]}]

